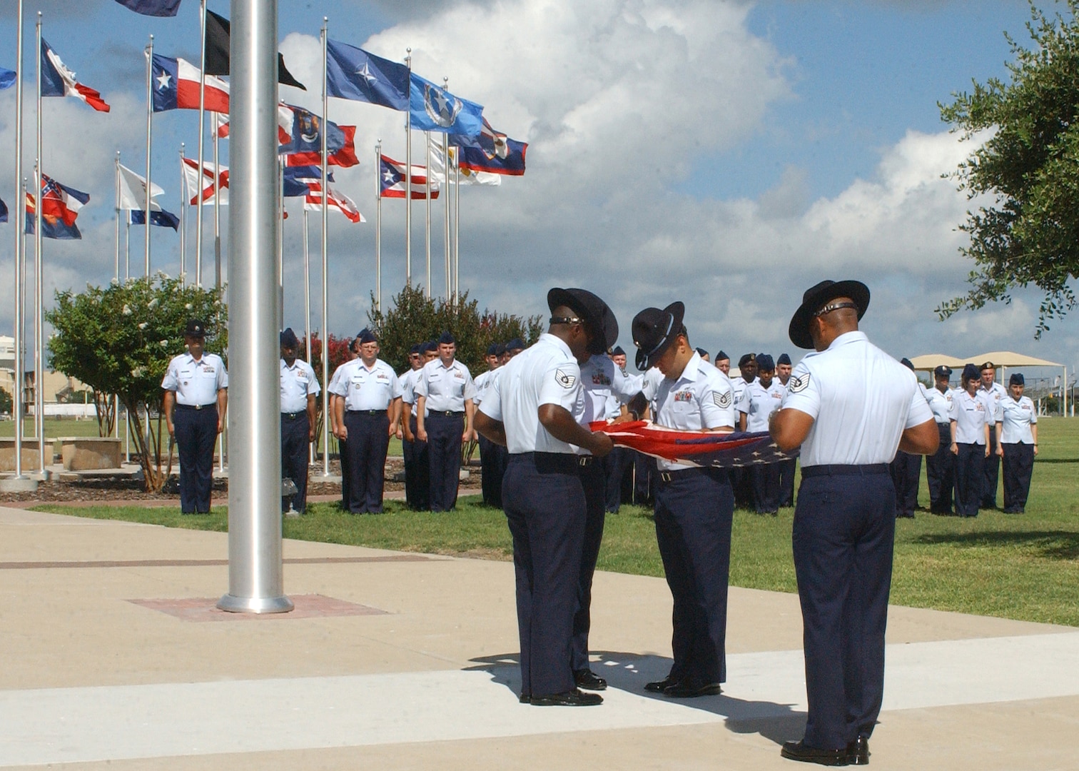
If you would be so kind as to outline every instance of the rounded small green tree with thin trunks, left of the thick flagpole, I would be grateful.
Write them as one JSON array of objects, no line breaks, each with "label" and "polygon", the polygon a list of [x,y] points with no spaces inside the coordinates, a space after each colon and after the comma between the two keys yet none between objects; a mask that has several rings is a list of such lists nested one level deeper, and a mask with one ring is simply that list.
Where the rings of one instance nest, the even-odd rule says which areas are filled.
[{"label": "rounded small green tree with thin trunks, left of the thick flagpole", "polygon": [[[131,416],[147,491],[158,491],[172,470],[162,470],[163,416],[161,380],[169,360],[185,350],[183,328],[189,319],[206,324],[206,348],[222,357],[228,348],[224,289],[203,289],[181,279],[158,273],[86,290],[57,292],[55,307],[45,313],[53,327],[49,338],[50,366],[78,378],[94,390],[98,431],[112,433],[113,395]],[[148,416],[156,420],[146,423]]]}]

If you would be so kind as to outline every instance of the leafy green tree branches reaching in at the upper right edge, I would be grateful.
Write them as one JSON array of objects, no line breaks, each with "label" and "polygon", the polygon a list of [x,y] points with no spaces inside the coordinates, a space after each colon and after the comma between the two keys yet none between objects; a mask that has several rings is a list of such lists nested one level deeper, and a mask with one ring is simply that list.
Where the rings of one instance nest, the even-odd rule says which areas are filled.
[{"label": "leafy green tree branches reaching in at the upper right edge", "polygon": [[987,302],[1011,301],[1014,287],[1043,293],[1035,337],[1075,308],[1068,285],[1079,270],[1079,0],[1069,17],[1047,16],[1034,3],[1024,48],[1007,32],[1013,62],[1008,82],[973,82],[973,91],[938,105],[964,140],[988,138],[951,176],[981,199],[959,229],[960,252],[974,260],[970,290],[943,302],[942,319]]}]

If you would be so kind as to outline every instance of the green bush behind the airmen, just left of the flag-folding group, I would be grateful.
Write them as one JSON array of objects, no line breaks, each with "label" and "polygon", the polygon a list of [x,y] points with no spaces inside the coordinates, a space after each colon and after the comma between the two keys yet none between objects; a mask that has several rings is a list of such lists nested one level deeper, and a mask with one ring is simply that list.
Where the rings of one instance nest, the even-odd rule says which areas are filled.
[{"label": "green bush behind the airmen, just left of the flag-folding group", "polygon": [[[375,308],[371,297],[371,308]],[[542,316],[522,319],[513,314],[479,310],[477,300],[464,293],[457,302],[428,298],[422,288],[406,286],[393,298],[393,307],[383,313],[370,310],[369,326],[379,336],[379,356],[395,370],[408,368],[408,350],[418,342],[435,340],[450,332],[457,340],[456,357],[474,375],[487,369],[483,356],[492,342],[519,337],[532,344],[543,333]]]}]

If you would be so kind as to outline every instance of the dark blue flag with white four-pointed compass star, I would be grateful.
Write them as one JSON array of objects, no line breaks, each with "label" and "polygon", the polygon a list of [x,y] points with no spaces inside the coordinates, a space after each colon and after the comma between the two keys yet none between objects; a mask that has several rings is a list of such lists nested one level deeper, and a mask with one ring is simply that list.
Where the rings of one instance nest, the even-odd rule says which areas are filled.
[{"label": "dark blue flag with white four-pointed compass star", "polygon": [[408,109],[408,67],[347,43],[326,41],[326,93],[339,99]]}]

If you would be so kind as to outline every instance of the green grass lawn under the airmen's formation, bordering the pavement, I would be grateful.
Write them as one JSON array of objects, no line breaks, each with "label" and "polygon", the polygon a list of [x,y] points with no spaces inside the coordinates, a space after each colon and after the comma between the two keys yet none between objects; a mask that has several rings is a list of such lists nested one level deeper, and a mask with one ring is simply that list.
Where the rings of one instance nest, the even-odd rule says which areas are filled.
[{"label": "green grass lawn under the airmen's formation, bordering the pavement", "polygon": [[[1079,421],[1042,419],[1030,500],[1024,515],[982,512],[978,518],[918,512],[897,523],[891,600],[939,610],[1079,626]],[[1002,495],[1002,493],[1001,493]],[[998,496],[998,502],[1000,497]],[[925,487],[919,502],[927,505]],[[227,513],[181,516],[179,509],[38,506],[41,511],[226,530]],[[736,511],[730,583],[796,591],[791,558],[793,510],[779,517]],[[308,516],[285,519],[286,538],[412,552],[508,559],[509,531],[501,511],[476,497],[451,514],[410,512],[390,501],[381,516],[351,516],[334,504],[312,504]],[[651,511],[623,506],[607,516],[601,570],[663,576]]]}]

